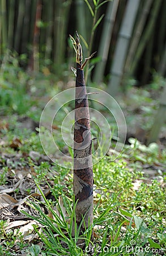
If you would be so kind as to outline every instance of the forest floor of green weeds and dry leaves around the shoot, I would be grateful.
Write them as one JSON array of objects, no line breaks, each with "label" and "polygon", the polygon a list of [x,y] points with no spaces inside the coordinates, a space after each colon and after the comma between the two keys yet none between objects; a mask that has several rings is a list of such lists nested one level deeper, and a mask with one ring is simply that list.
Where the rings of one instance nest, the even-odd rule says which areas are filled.
[{"label": "forest floor of green weeds and dry leaves around the shoot", "polygon": [[[62,253],[58,247],[62,242],[61,236],[54,232],[54,239],[59,242],[56,245],[49,238],[49,232],[46,233],[47,224],[41,221],[48,217],[54,220],[51,208],[59,217],[63,213],[67,221],[70,214],[64,210],[63,197],[69,204],[73,198],[72,162],[66,164],[68,168],[61,167],[56,152],[52,162],[42,149],[39,137],[41,105],[43,107],[53,94],[37,97],[37,108],[33,104],[23,113],[12,113],[7,103],[1,109],[0,255],[120,255],[120,252],[115,254],[111,251],[105,254],[104,249],[93,254],[92,250],[89,254],[80,250],[78,254],[77,246],[71,249],[71,254],[68,249],[66,254]],[[21,100],[17,106],[20,109],[24,101],[25,104],[28,102],[27,98]],[[120,97],[118,103],[125,114],[127,139],[114,162],[110,160],[110,148],[93,168],[96,220],[93,245],[95,248],[101,245],[102,248],[121,248],[137,241],[138,246],[150,248],[140,255],[165,255],[165,126],[158,142],[145,146],[158,109],[156,94],[152,95],[149,88],[133,88],[125,97]],[[54,124],[57,134],[59,127],[58,120]],[[71,154],[69,148],[59,145],[67,155]],[[113,207],[107,210],[110,205]],[[63,209],[62,213],[58,207]],[[101,221],[103,212],[105,215]],[[41,236],[42,232],[45,232],[47,240]],[[126,251],[121,255],[126,255]]]}]

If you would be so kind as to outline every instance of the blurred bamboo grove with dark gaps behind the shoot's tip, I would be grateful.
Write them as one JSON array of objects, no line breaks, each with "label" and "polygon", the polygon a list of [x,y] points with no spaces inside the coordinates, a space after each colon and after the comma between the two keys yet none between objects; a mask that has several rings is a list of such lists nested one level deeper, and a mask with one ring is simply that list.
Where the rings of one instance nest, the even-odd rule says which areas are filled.
[{"label": "blurred bamboo grove with dark gaps behind the shoot's tip", "polygon": [[27,57],[24,68],[62,77],[78,30],[85,54],[97,51],[91,80],[112,94],[128,77],[144,85],[154,70],[165,75],[165,0],[1,0],[0,9],[1,62],[10,50]]}]

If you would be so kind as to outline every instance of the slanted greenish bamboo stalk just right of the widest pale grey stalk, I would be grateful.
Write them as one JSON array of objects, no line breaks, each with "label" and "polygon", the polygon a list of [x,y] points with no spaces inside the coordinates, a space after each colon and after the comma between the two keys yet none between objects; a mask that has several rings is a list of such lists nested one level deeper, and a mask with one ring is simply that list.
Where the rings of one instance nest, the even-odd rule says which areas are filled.
[{"label": "slanted greenish bamboo stalk just right of the widest pale grey stalk", "polygon": [[152,1],[153,0],[146,0],[146,1],[143,2],[143,8],[141,10],[141,15],[139,16],[138,22],[135,25],[134,33],[133,33],[131,43],[130,43],[130,47],[129,47],[129,52],[127,53],[127,57],[126,57],[126,63],[125,63],[125,67],[124,67],[125,76],[130,75],[131,63],[134,60],[135,51],[137,50],[139,40],[141,38],[142,31],[143,31],[143,28],[144,28],[144,24],[146,23],[146,20],[147,20],[147,15],[150,12]]}]

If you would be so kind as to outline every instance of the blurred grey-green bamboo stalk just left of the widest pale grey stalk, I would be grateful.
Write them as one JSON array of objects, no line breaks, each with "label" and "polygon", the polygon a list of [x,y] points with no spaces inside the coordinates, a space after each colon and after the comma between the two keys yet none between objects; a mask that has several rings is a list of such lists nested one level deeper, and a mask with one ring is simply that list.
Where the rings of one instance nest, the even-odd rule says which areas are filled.
[{"label": "blurred grey-green bamboo stalk just left of the widest pale grey stalk", "polygon": [[110,39],[112,37],[113,25],[116,19],[118,4],[119,0],[113,0],[109,2],[107,13],[104,17],[104,28],[101,33],[100,46],[98,51],[98,56],[101,57],[101,61],[97,63],[93,77],[93,81],[98,84],[103,81],[105,65],[108,59]]}]

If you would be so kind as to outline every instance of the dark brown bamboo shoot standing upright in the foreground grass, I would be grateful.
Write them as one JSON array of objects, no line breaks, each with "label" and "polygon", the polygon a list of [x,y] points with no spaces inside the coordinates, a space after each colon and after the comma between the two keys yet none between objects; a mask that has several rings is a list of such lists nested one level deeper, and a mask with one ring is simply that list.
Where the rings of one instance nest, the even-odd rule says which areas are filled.
[{"label": "dark brown bamboo shoot standing upright in the foreground grass", "polygon": [[[92,139],[90,133],[90,113],[82,64],[82,47],[79,36],[76,42],[71,38],[76,51],[76,82],[75,82],[75,124],[74,124],[74,177],[76,227],[73,225],[73,237],[80,226],[80,234],[84,233],[93,223],[93,168]],[[92,239],[92,236],[91,236]],[[84,243],[84,239],[78,243]]]}]

